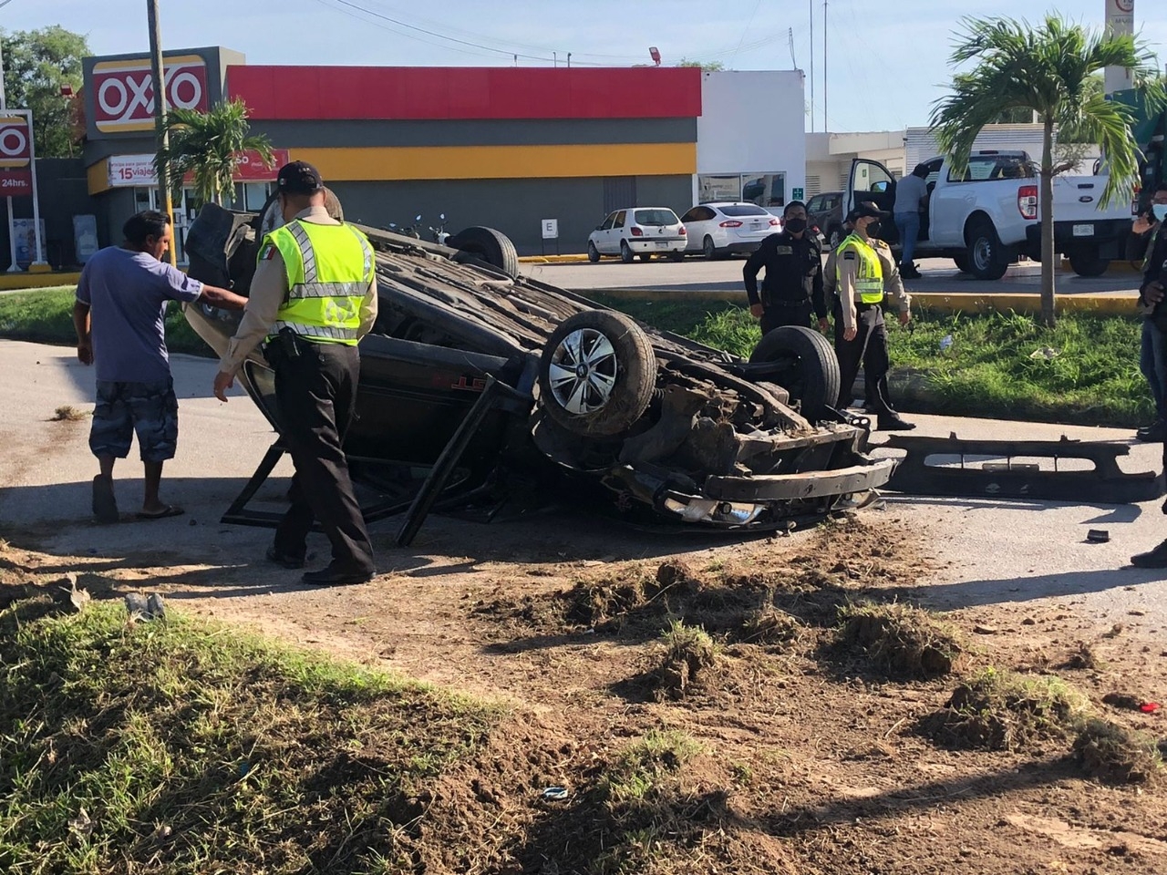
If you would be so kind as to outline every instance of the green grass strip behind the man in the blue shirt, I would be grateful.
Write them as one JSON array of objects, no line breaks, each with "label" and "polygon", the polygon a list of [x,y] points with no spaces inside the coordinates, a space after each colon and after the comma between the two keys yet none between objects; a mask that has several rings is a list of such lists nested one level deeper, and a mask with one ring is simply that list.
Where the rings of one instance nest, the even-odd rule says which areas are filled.
[{"label": "green grass strip behind the man in the blue shirt", "polygon": [[[54,286],[0,295],[0,337],[75,345],[72,306],[76,294],[76,286]],[[210,346],[195,334],[175,303],[167,306],[166,344],[170,352],[212,356]]]}]

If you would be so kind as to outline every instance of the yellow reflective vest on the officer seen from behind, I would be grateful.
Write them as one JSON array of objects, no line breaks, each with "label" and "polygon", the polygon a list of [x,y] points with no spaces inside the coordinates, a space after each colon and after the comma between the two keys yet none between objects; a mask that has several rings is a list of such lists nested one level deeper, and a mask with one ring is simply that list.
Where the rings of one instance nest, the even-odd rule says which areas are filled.
[{"label": "yellow reflective vest on the officer seen from behind", "polygon": [[361,304],[373,278],[368,238],[352,225],[293,219],[264,242],[279,250],[288,278],[272,335],[291,328],[309,341],[356,345]]}]

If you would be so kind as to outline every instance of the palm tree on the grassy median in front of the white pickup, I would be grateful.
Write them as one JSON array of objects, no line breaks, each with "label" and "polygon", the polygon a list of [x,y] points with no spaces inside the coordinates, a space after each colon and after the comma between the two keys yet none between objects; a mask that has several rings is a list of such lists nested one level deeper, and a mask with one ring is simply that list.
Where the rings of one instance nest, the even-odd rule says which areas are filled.
[{"label": "palm tree on the grassy median in front of the white pickup", "polygon": [[1154,56],[1132,36],[1096,34],[1081,24],[1047,15],[1039,27],[1014,19],[962,19],[952,64],[978,61],[969,72],[952,77],[952,92],[932,106],[931,126],[941,148],[962,173],[980,128],[1002,112],[1029,110],[1044,126],[1041,156],[1041,315],[1054,324],[1054,176],[1072,162],[1055,163],[1054,126],[1096,142],[1105,155],[1110,178],[1102,195],[1106,205],[1130,191],[1139,163],[1125,106],[1091,92],[1091,75],[1106,66],[1134,71],[1134,80],[1158,106],[1162,85],[1155,84]]}]

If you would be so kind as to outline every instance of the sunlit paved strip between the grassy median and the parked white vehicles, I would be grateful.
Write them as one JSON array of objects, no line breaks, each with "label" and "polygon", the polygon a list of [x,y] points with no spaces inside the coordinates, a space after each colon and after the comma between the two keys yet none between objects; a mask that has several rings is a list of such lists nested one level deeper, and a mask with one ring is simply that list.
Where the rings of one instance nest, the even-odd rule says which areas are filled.
[{"label": "sunlit paved strip between the grassy median and the parked white vehicles", "polygon": [[[689,258],[677,264],[655,259],[634,261],[626,265],[615,259],[603,259],[598,264],[555,262],[524,264],[523,272],[532,279],[560,288],[573,290],[603,289],[652,289],[658,292],[740,292],[745,300],[741,268],[742,258],[706,261]],[[1016,264],[997,281],[976,280],[960,273],[950,259],[930,258],[918,262],[922,279],[908,280],[908,292],[936,292],[943,294],[1009,294],[1040,293],[1041,265]],[[1130,295],[1138,294],[1138,274],[1112,268],[1096,278],[1078,276],[1071,272],[1058,272],[1055,288],[1060,295],[1082,293]]]}]

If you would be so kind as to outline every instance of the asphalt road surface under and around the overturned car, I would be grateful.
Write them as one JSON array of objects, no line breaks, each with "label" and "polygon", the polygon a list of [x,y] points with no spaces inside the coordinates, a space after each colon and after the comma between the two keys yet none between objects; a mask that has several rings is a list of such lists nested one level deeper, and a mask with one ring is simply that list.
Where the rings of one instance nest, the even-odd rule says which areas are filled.
[{"label": "asphalt road surface under and around the overturned car", "polygon": [[[244,566],[263,554],[270,532],[221,525],[218,519],[273,435],[246,397],[224,405],[210,396],[214,360],[174,357],[181,435],[179,456],[166,467],[163,498],[182,504],[186,516],[114,526],[90,522],[96,462],[88,449],[88,421],[50,421],[62,405],[92,410],[92,369],[81,365],[70,349],[8,341],[0,343],[0,370],[6,374],[0,385],[5,411],[0,440],[6,448],[0,456],[0,537],[32,536],[60,555],[121,559],[156,556],[163,551],[167,561],[204,564],[212,576],[235,579],[249,573]],[[914,434],[956,432],[960,438],[993,439],[1067,434],[1118,441],[1132,449],[1121,461],[1125,470],[1159,466],[1159,447],[1133,443],[1128,432],[946,416],[911,419],[920,426]],[[281,464],[260,499],[277,506],[288,473],[288,466]],[[119,504],[124,512],[132,511],[140,502],[141,466],[133,457],[119,462],[114,476]],[[921,578],[935,607],[1033,603],[1036,609],[1048,602],[1068,607],[1100,631],[1116,622],[1145,626],[1144,631],[1167,623],[1167,574],[1124,567],[1132,553],[1167,536],[1158,501],[1106,505],[1089,495],[1075,504],[889,495],[885,510],[860,513],[881,526],[892,541],[909,532],[924,533],[936,556],[950,564]],[[399,519],[391,518],[372,527],[375,540],[383,545],[382,570],[399,561],[385,546],[398,525]],[[448,525],[481,524],[450,520]],[[1088,542],[1090,528],[1107,530],[1110,541]],[[313,550],[327,553],[322,537],[313,537],[319,541]],[[1131,611],[1141,614],[1132,617]]]}]

